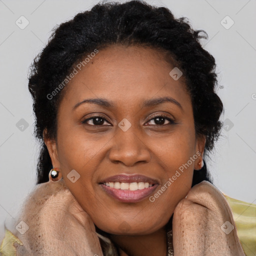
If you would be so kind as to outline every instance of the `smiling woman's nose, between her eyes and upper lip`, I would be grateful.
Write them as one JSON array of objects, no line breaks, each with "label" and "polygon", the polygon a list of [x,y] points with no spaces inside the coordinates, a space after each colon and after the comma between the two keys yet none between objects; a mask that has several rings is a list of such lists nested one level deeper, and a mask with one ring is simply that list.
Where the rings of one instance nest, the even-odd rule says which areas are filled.
[{"label": "smiling woman's nose, between her eyes and upper lip", "polygon": [[113,146],[109,152],[109,159],[112,162],[133,166],[137,162],[147,163],[150,158],[150,150],[143,141],[143,137],[136,134],[132,126],[126,131],[117,128],[117,133],[113,137]]}]

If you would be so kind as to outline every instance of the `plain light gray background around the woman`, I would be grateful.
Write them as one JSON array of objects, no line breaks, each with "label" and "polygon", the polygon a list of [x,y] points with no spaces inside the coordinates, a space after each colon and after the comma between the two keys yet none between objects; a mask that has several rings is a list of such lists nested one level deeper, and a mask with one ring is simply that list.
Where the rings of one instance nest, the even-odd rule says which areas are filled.
[{"label": "plain light gray background around the woman", "polygon": [[[35,185],[38,146],[33,138],[28,66],[56,24],[96,2],[0,0],[0,239],[4,220],[6,225],[15,221],[22,201]],[[194,29],[207,32],[209,38],[202,43],[216,59],[223,86],[218,94],[225,109],[221,116],[225,127],[207,161],[208,168],[222,192],[256,203],[256,0],[147,2],[166,6],[176,17],[188,17]],[[21,15],[29,21],[24,29],[15,24]],[[230,26],[226,15],[234,21],[228,29],[221,24],[223,20]]]}]

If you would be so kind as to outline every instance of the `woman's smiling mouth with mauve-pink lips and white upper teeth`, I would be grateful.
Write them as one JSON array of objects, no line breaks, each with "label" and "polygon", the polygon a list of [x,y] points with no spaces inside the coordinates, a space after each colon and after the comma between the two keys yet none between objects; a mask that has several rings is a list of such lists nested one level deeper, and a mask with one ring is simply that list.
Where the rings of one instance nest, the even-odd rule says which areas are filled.
[{"label": "woman's smiling mouth with mauve-pink lips and white upper teeth", "polygon": [[159,182],[140,174],[119,174],[102,179],[99,185],[108,195],[118,201],[137,202],[149,196]]}]

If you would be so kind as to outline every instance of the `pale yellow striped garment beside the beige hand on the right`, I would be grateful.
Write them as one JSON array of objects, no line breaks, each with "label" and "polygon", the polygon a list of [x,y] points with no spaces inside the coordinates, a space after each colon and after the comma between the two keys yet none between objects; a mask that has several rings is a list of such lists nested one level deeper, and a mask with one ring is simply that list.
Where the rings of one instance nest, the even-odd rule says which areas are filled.
[{"label": "pale yellow striped garment beside the beige hand on the right", "polygon": [[231,198],[223,193],[231,207],[242,249],[246,256],[256,255],[256,204]]}]

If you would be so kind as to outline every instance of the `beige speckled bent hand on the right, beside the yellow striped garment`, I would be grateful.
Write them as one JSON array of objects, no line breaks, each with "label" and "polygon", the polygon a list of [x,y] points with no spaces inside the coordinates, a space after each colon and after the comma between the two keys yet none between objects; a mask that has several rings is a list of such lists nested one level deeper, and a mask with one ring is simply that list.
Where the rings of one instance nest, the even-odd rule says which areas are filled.
[{"label": "beige speckled bent hand on the right, beside the yellow striped garment", "polygon": [[[233,226],[231,231],[222,231],[226,221],[230,224],[222,228]],[[231,209],[223,194],[208,181],[193,186],[177,204],[172,234],[174,256],[245,256]]]}]

